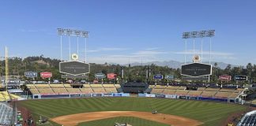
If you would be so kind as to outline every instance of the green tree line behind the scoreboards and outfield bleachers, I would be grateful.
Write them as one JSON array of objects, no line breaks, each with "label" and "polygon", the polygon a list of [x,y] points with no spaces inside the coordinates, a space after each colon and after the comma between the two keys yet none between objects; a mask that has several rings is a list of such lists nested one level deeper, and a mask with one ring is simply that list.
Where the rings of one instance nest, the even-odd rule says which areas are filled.
[{"label": "green tree line behind the scoreboards and outfield bleachers", "polygon": [[[0,61],[0,75],[5,76],[5,60]],[[58,65],[60,60],[51,59],[50,57],[33,56],[33,57],[9,57],[9,75],[21,76],[21,80],[28,80],[24,76],[24,72],[52,72],[51,80],[63,80],[61,78],[61,73],[58,71]],[[150,76],[148,81],[153,83],[152,76],[156,74],[161,75],[174,75],[175,79],[179,80],[182,78],[181,69],[172,69],[168,66],[157,66],[157,65],[147,65],[147,66],[122,66],[122,65],[108,65],[107,62],[104,65],[98,65],[95,63],[90,64],[91,71],[88,73],[88,81],[95,80],[95,73],[115,73],[119,80],[121,79],[121,69],[124,71],[123,80],[126,81],[139,81],[145,82],[146,71],[149,69]],[[219,76],[230,75],[232,77],[236,75],[248,76],[248,81],[245,83],[256,82],[256,65],[248,63],[246,66],[234,66],[227,65],[225,69],[220,69],[217,63],[213,65],[213,75],[210,78],[211,83],[218,83]],[[38,76],[36,80],[43,80]],[[104,81],[109,81],[104,79]],[[167,80],[162,80],[162,83],[166,83]],[[186,83],[186,82],[183,82]],[[194,82],[197,83],[197,82]],[[235,83],[232,79],[229,83]]]}]

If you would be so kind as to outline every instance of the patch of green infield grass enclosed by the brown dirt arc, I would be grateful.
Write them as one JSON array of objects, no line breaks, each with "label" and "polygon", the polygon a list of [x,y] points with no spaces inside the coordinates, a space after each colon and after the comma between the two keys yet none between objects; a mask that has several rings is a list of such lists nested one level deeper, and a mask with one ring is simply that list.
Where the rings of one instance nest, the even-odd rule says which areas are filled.
[{"label": "patch of green infield grass enclosed by the brown dirt arc", "polygon": [[78,126],[113,126],[115,123],[131,124],[134,126],[170,126],[168,124],[161,124],[151,120],[144,120],[137,117],[113,117],[104,120],[93,120],[85,123],[78,124]]}]

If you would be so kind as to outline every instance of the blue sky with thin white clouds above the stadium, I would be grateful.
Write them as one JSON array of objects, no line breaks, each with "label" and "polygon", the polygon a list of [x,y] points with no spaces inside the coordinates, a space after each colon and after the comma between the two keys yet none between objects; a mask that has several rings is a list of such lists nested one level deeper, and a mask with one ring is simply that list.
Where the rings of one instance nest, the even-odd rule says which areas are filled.
[{"label": "blue sky with thin white clouds above the stadium", "polygon": [[[192,61],[193,39],[184,31],[215,29],[212,61],[232,65],[256,62],[254,0],[27,0],[0,1],[0,57],[61,58],[57,28],[89,31],[78,39],[80,61],[118,63]],[[209,38],[195,39],[195,52],[209,61]],[[71,54],[77,38],[71,37]],[[69,60],[69,39],[62,37]],[[86,56],[85,56],[86,50]]]}]

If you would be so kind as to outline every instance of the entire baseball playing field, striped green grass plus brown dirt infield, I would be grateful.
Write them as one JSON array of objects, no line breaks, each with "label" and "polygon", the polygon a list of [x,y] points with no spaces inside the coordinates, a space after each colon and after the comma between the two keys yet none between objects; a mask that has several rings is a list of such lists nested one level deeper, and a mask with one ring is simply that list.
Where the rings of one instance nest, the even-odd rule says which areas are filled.
[{"label": "entire baseball playing field, striped green grass plus brown dirt infield", "polygon": [[[113,126],[116,122],[133,126],[216,126],[232,113],[246,109],[228,103],[168,98],[58,98],[22,101],[18,105],[28,108],[35,120],[40,116],[51,120],[42,125],[54,126]],[[158,114],[152,114],[152,110]]]}]

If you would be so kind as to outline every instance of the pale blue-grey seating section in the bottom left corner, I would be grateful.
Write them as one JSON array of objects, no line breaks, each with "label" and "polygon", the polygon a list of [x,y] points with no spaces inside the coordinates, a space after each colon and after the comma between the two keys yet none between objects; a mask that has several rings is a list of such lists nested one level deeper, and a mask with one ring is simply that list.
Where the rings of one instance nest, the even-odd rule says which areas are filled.
[{"label": "pale blue-grey seating section in the bottom left corner", "polygon": [[0,125],[11,125],[13,108],[4,102],[0,102]]}]

